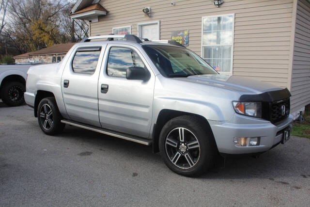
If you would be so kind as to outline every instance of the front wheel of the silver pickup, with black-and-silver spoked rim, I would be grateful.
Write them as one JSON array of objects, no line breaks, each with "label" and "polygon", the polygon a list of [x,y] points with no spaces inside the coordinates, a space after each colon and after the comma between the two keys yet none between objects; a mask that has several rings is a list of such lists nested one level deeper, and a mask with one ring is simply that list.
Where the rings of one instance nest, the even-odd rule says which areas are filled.
[{"label": "front wheel of the silver pickup, with black-and-silver spoked rim", "polygon": [[217,155],[210,127],[196,116],[179,116],[168,121],[159,135],[159,150],[175,173],[197,176],[210,169]]}]

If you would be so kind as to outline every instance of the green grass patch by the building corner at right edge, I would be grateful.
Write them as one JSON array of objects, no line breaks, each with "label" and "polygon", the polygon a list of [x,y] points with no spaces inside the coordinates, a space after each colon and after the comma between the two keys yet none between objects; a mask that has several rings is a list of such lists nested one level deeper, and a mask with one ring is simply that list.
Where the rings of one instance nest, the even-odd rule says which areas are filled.
[{"label": "green grass patch by the building corner at right edge", "polygon": [[303,117],[305,119],[303,123],[299,123],[299,121],[294,121],[291,135],[310,138],[310,105],[306,106]]}]

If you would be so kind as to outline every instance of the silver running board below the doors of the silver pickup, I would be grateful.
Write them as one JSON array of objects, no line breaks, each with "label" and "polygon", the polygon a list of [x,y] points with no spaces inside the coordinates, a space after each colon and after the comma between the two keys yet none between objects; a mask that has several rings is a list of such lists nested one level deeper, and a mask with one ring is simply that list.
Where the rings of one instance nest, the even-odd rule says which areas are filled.
[{"label": "silver running board below the doors of the silver pickup", "polygon": [[62,120],[61,122],[64,124],[68,124],[68,125],[72,125],[72,126],[80,127],[80,128],[85,128],[88,130],[92,130],[92,131],[99,132],[102,134],[106,134],[109,136],[121,138],[121,139],[128,140],[128,141],[135,142],[135,143],[140,143],[140,144],[144,144],[144,145],[151,145],[152,144],[152,140],[150,140],[150,139],[145,139],[143,137],[137,137],[137,136],[133,136],[130,134],[112,131],[112,130],[109,130],[106,128],[94,127],[91,125],[86,125],[86,124],[82,124],[82,123],[71,121],[71,120]]}]

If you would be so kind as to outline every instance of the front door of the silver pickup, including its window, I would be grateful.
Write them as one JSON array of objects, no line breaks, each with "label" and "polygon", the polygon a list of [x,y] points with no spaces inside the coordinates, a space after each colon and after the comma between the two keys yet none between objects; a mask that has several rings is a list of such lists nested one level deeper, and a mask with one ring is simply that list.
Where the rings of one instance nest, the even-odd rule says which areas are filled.
[{"label": "front door of the silver pickup, including its window", "polygon": [[[99,119],[102,127],[148,137],[152,123],[155,76],[140,51],[109,44],[99,76]],[[144,67],[149,80],[127,80],[128,67]]]}]

